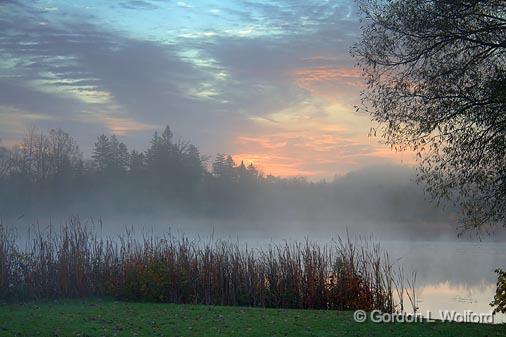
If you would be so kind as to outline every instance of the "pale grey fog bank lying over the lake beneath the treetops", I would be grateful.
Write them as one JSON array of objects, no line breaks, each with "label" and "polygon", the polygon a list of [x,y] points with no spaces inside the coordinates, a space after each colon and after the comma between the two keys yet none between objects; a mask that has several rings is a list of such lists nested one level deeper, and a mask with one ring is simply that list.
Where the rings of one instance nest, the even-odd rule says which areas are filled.
[{"label": "pale grey fog bank lying over the lake beneath the treetops", "polygon": [[382,239],[453,239],[457,234],[455,209],[448,205],[437,208],[429,201],[423,187],[415,183],[414,170],[406,166],[369,166],[332,182],[279,180],[260,187],[239,186],[234,193],[246,195],[246,200],[229,196],[213,200],[213,193],[222,191],[211,191],[209,198],[214,208],[203,211],[200,204],[178,206],[162,198],[154,200],[150,207],[142,204],[143,208],[135,208],[135,201],[143,202],[144,196],[153,198],[145,190],[133,192],[138,194],[131,197],[133,207],[126,203],[118,205],[125,195],[112,185],[107,194],[109,199],[90,192],[79,199],[74,197],[79,191],[71,191],[68,199],[77,201],[66,202],[64,206],[33,198],[27,203],[13,203],[9,208],[0,207],[0,216],[5,223],[16,226],[36,222],[58,224],[77,215],[82,220],[101,219],[104,229],[112,231],[125,225],[148,226],[155,231],[170,226],[189,234],[214,231],[260,240],[308,235],[319,239],[346,229]]}]

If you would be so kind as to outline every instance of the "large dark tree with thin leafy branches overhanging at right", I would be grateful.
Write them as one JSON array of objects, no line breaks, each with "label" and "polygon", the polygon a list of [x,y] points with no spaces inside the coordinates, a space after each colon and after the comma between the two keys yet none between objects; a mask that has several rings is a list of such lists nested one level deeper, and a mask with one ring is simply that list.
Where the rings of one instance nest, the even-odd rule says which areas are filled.
[{"label": "large dark tree with thin leafy branches overhanging at right", "polygon": [[[506,2],[359,1],[363,109],[463,229],[506,221]],[[373,130],[376,132],[376,130]]]}]

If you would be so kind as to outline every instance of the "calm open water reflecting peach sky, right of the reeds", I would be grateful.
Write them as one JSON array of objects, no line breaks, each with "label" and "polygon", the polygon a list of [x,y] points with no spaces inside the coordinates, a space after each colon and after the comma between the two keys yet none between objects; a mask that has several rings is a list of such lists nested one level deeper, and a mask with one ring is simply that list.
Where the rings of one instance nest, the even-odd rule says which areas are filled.
[{"label": "calm open water reflecting peach sky, right of the reeds", "polygon": [[[384,241],[395,263],[417,274],[417,306],[441,318],[440,310],[488,313],[495,294],[494,269],[505,267],[506,244],[465,241]],[[505,323],[496,315],[495,323]]]}]

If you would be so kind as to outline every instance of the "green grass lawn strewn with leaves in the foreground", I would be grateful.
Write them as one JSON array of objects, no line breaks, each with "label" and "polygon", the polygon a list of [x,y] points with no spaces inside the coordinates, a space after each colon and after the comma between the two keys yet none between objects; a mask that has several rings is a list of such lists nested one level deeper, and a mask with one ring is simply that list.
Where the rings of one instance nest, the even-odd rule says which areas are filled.
[{"label": "green grass lawn strewn with leaves in the foreground", "polygon": [[0,336],[506,336],[506,325],[356,323],[352,312],[72,300],[0,305]]}]

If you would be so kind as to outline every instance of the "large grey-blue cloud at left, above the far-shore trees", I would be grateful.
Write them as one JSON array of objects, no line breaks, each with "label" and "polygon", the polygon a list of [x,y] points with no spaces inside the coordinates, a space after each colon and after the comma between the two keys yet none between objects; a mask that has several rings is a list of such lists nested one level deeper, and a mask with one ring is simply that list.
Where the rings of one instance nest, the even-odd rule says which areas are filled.
[{"label": "large grey-blue cloud at left, above the far-shore trees", "polygon": [[[169,123],[188,125],[208,110],[189,92],[210,75],[181,60],[170,46],[86,23],[41,29],[13,18],[0,49],[10,60],[2,63],[0,113],[16,109],[46,116],[58,127],[91,123],[101,126],[98,132],[127,135]],[[18,125],[24,120],[20,116]],[[0,132],[7,132],[5,125]],[[83,126],[76,136],[90,144],[97,134]]]}]

